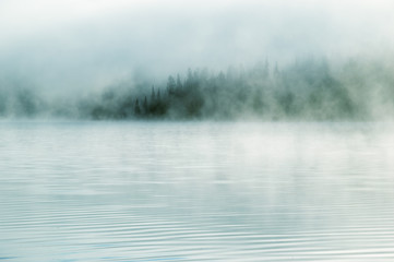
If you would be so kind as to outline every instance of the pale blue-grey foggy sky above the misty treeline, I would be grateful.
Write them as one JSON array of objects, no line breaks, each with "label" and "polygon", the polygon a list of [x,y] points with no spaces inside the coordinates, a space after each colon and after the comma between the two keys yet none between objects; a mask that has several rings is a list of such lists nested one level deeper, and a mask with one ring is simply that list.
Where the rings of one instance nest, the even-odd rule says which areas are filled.
[{"label": "pale blue-grey foggy sky above the misty treeline", "polygon": [[393,13],[392,0],[0,0],[0,81],[79,91],[132,74],[385,53]]}]

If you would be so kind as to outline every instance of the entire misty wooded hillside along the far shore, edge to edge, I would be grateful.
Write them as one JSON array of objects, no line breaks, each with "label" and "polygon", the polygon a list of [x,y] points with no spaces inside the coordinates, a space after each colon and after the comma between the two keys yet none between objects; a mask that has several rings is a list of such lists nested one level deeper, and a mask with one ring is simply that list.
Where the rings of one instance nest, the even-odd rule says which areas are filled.
[{"label": "entire misty wooded hillside along the far shore, edge to edge", "polygon": [[123,81],[83,97],[46,98],[2,81],[0,116],[77,119],[386,120],[394,114],[392,62],[268,61],[213,73],[189,69],[162,84]]}]

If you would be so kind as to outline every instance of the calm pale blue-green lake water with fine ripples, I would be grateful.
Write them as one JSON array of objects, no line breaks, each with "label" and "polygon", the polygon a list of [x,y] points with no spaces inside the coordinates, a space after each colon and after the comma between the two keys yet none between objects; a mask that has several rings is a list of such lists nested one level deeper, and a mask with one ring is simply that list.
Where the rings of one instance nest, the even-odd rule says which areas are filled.
[{"label": "calm pale blue-green lake water with fine ripples", "polygon": [[394,261],[394,127],[1,121],[0,261]]}]

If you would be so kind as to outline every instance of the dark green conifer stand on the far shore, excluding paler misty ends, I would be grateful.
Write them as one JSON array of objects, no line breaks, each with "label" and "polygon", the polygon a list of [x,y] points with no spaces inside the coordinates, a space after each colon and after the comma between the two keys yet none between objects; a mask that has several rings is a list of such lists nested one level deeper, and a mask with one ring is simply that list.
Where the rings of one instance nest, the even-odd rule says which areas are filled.
[{"label": "dark green conifer stand on the far shore, excluding paler misty ends", "polygon": [[[184,80],[168,76],[165,91],[163,94],[159,87],[152,86],[151,99],[135,94],[134,105],[128,96],[105,94],[92,117],[333,120],[353,119],[360,114],[325,60],[297,61],[283,71],[277,64],[271,71],[267,61],[249,71],[229,68],[217,74],[189,69]],[[139,97],[143,99],[142,108]]]}]

